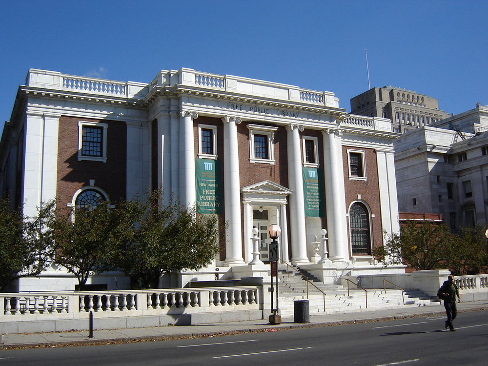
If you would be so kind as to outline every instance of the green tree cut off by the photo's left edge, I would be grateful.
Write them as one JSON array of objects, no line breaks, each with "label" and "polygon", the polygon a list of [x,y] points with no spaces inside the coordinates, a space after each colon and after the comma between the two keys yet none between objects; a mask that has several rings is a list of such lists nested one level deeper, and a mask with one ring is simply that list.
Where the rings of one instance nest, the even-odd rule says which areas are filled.
[{"label": "green tree cut off by the photo's left edge", "polygon": [[48,242],[41,235],[46,212],[41,208],[37,217],[26,218],[20,208],[9,211],[8,200],[0,201],[0,289],[47,266]]}]

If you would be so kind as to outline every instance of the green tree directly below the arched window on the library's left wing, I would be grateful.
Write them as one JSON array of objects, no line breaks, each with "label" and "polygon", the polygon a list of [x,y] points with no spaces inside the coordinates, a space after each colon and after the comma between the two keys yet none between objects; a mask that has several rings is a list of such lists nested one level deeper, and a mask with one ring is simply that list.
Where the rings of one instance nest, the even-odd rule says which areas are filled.
[{"label": "green tree directly below the arched window on the library's left wing", "polygon": [[102,202],[89,210],[53,209],[45,233],[53,244],[53,262],[85,285],[90,275],[112,269],[113,248],[132,239],[136,218],[125,203],[117,208]]}]

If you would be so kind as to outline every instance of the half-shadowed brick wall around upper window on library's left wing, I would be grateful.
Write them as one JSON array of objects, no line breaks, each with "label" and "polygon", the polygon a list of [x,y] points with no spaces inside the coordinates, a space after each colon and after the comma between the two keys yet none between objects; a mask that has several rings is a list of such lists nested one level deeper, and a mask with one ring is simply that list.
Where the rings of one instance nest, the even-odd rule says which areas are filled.
[{"label": "half-shadowed brick wall around upper window on library's left wing", "polygon": [[[78,161],[78,122],[107,123],[107,161]],[[110,201],[126,196],[127,128],[123,121],[94,120],[61,116],[58,140],[57,197],[62,206],[71,203],[74,193],[95,180]]]}]

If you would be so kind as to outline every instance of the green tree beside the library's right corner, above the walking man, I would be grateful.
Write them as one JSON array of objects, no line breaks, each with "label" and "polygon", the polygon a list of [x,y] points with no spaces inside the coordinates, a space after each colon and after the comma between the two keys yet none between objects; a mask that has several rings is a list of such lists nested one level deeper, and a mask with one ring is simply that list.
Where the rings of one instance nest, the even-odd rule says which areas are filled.
[{"label": "green tree beside the library's right corner, above the walking man", "polygon": [[386,235],[373,255],[386,266],[407,264],[417,270],[446,268],[458,238],[444,225],[407,221],[399,233]]}]

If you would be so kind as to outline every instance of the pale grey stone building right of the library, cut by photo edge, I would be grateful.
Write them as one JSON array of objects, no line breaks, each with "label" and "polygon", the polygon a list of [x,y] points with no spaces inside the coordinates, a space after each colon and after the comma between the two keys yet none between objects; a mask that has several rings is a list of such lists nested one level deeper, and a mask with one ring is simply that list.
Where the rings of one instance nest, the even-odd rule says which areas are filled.
[{"label": "pale grey stone building right of the library, cut by photo edge", "polygon": [[488,222],[488,106],[394,142],[401,212],[442,214],[452,230]]}]

